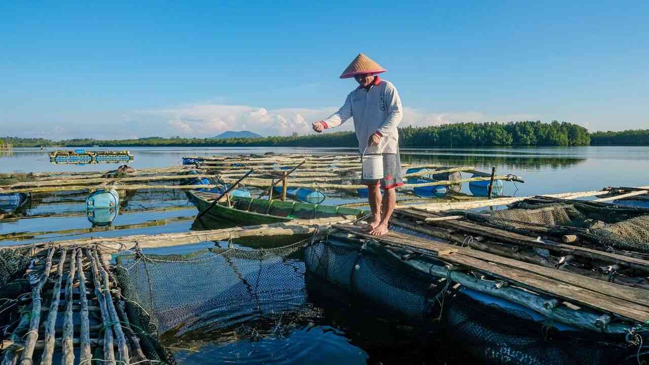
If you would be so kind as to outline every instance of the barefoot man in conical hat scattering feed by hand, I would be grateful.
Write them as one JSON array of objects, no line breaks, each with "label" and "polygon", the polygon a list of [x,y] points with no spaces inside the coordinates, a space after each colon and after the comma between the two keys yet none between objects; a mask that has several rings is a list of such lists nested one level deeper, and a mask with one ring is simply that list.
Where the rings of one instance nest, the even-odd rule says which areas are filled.
[{"label": "barefoot man in conical hat scattering feed by hand", "polygon": [[[354,77],[358,88],[347,95],[345,105],[340,110],[326,120],[313,123],[313,130],[322,132],[354,118],[361,153],[383,155],[383,179],[361,179],[361,184],[367,185],[373,215],[367,231],[374,236],[387,233],[387,224],[397,201],[395,187],[403,185],[397,132],[397,125],[402,119],[401,99],[391,82],[378,77],[379,73],[385,71],[378,63],[360,53],[340,76],[341,79]],[[380,188],[384,190],[383,199]]]}]

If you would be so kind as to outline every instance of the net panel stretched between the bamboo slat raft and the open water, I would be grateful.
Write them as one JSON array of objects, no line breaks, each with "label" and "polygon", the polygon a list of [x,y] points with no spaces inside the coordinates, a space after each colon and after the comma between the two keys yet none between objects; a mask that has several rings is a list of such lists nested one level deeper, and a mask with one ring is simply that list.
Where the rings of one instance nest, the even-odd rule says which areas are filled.
[{"label": "net panel stretched between the bamboo slat raft and the open water", "polygon": [[149,359],[175,363],[160,338],[219,331],[250,320],[249,314],[270,316],[303,305],[305,270],[298,256],[309,242],[117,255],[116,279]]}]

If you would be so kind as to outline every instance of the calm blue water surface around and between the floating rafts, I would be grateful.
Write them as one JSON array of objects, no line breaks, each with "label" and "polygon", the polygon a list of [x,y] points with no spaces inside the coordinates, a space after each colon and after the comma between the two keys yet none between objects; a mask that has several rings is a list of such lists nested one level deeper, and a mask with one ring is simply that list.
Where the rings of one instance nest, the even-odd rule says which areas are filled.
[{"label": "calm blue water surface around and between the floating rafts", "polygon": [[[115,148],[117,149],[117,148]],[[180,158],[241,153],[356,153],[353,149],[293,148],[119,148],[134,155],[136,169],[180,165]],[[52,164],[48,149],[0,152],[0,173],[13,171],[103,171],[119,164]],[[534,149],[403,149],[402,162],[474,166],[485,172],[511,173],[526,183],[506,183],[505,195],[534,195],[597,190],[604,186],[649,186],[649,147],[570,147]],[[464,177],[469,177],[465,175]],[[468,186],[462,187],[468,194]],[[185,232],[196,210],[182,192],[145,192],[123,197],[120,214],[108,229],[86,219],[88,194],[34,195],[17,218],[0,220],[0,245],[26,244],[90,236]],[[345,200],[339,195],[326,203]],[[23,218],[23,219],[18,219]],[[194,247],[195,249],[201,247]],[[182,248],[191,250],[189,248]],[[171,253],[169,248],[156,251]],[[300,258],[296,264],[303,265]],[[291,310],[260,315],[242,310],[237,325],[223,323],[194,336],[165,338],[180,364],[443,364],[461,363],[440,356],[428,329],[386,318],[356,303],[326,283],[304,281]]]}]

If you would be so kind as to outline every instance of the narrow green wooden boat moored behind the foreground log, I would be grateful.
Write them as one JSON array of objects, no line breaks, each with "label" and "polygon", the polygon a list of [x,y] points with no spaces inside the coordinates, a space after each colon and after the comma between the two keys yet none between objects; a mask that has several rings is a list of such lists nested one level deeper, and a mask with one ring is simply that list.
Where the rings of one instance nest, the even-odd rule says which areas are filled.
[{"label": "narrow green wooden boat moored behind the foreground log", "polygon": [[[219,194],[208,192],[187,192],[188,198],[202,212],[212,204],[212,200]],[[330,205],[319,205],[310,203],[298,203],[294,201],[281,201],[267,199],[255,199],[249,197],[233,197],[232,205],[228,207],[226,199],[210,208],[204,216],[214,220],[227,220],[234,223],[255,225],[278,223],[295,219],[312,220],[316,218],[328,218],[336,216],[355,216],[360,218],[366,214],[365,210],[334,207]]]}]

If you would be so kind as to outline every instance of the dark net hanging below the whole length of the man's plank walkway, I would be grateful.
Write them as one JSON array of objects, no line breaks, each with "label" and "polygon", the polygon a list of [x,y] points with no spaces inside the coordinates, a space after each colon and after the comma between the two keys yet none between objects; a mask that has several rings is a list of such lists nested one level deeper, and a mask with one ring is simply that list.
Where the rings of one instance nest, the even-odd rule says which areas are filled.
[{"label": "dark net hanging below the whole length of the man's plank walkway", "polygon": [[306,247],[304,259],[310,273],[360,296],[365,305],[427,326],[436,333],[430,348],[442,363],[635,363],[639,345],[626,334],[565,330],[516,305],[476,300],[460,284],[430,273],[432,265],[446,265],[434,257],[329,236]]}]

